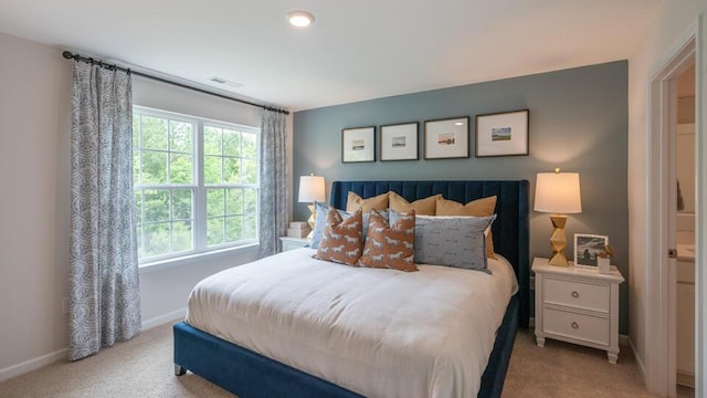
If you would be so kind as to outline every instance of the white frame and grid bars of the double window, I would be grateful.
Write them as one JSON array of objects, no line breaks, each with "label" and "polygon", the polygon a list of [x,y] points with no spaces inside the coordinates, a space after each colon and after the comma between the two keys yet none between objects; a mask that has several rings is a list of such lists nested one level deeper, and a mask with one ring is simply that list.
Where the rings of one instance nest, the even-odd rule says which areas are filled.
[{"label": "white frame and grid bars of the double window", "polygon": [[[176,258],[183,254],[191,254],[198,252],[208,252],[211,250],[218,250],[228,247],[235,247],[240,244],[246,244],[257,241],[257,196],[260,193],[260,186],[257,184],[257,168],[260,167],[260,160],[257,158],[258,149],[258,132],[252,127],[242,127],[236,125],[224,124],[220,122],[210,122],[199,118],[190,118],[182,115],[178,115],[173,117],[173,115],[169,113],[163,113],[155,109],[147,108],[138,108],[136,107],[134,113],[135,122],[134,134],[138,135],[137,138],[137,147],[134,149],[136,156],[136,165],[139,168],[139,177],[136,178],[136,193],[139,192],[139,209],[137,211],[140,214],[140,219],[138,222],[138,239],[140,241],[140,261],[157,261],[162,259]],[[144,133],[144,117],[155,117],[163,121],[167,124],[167,143],[166,149],[161,148],[147,148],[145,144],[145,133]],[[190,124],[191,125],[191,136],[190,143],[192,153],[188,153],[184,150],[180,150],[175,147],[175,137],[176,129],[180,128],[180,124]],[[207,154],[202,148],[205,146],[205,130],[207,128],[214,128],[219,130],[219,146],[220,146],[220,182],[218,184],[204,184],[205,176],[204,169],[207,168],[207,157],[215,156],[215,154]],[[225,154],[225,143],[224,143],[224,130],[230,132],[229,134],[238,135],[238,150],[236,153],[241,156]],[[244,135],[250,134],[249,137],[253,146],[250,148],[252,150],[252,155],[255,157],[244,156],[243,153],[243,138]],[[135,140],[134,140],[135,143]],[[149,181],[145,182],[145,153],[155,153],[155,154],[165,154],[166,156],[166,176],[163,178],[165,182],[155,182]],[[172,175],[172,161],[175,161],[173,155],[182,155],[188,156],[191,159],[191,184],[184,182],[175,182],[175,176]],[[238,172],[239,176],[235,180],[238,182],[232,182],[234,179],[231,178],[231,182],[226,182],[226,170],[224,163],[226,159],[233,159],[238,161]],[[254,172],[251,172],[251,180],[245,181],[249,176],[245,174],[247,170],[243,168],[243,159],[253,161]],[[253,170],[251,170],[253,171]],[[231,176],[233,177],[233,176]],[[154,178],[154,177],[151,177]],[[161,179],[158,178],[159,181]],[[253,181],[254,179],[254,181]],[[245,182],[244,182],[245,181]],[[167,195],[167,211],[166,219],[157,219],[157,220],[148,220],[149,214],[147,206],[146,206],[146,191],[150,190],[159,190]],[[209,191],[211,190],[221,190],[221,203],[219,206],[219,212],[215,216],[209,216]],[[246,213],[246,191],[251,191],[249,200],[251,201],[250,209],[251,213]],[[183,214],[178,214],[176,210],[176,199],[175,192],[177,191],[189,191],[190,192],[190,205],[191,209],[189,214],[191,218],[180,217]],[[203,193],[199,193],[199,191]],[[232,209],[233,203],[229,203],[229,195],[234,195],[233,192],[240,192],[240,205],[239,209]],[[136,199],[138,197],[136,196]],[[183,200],[183,199],[182,199]],[[199,208],[203,210],[200,210]],[[181,209],[180,209],[181,211]],[[204,217],[205,216],[205,217]],[[210,231],[209,230],[209,220],[219,219],[218,223],[220,224],[218,230]],[[249,223],[250,222],[250,223]],[[187,250],[183,249],[183,234],[179,235],[177,232],[177,227],[182,228],[181,226],[187,226],[190,230],[190,243]],[[149,228],[155,226],[166,226],[167,232],[167,248],[166,252],[161,254],[155,254],[150,250],[154,249],[149,247],[151,244],[148,239],[149,237]],[[246,231],[247,230],[247,231]],[[218,242],[214,241],[210,243],[209,235],[215,233],[219,235]],[[203,235],[202,235],[203,234]],[[203,237],[203,238],[201,238]],[[154,243],[154,242],[152,242]],[[163,242],[162,242],[163,243]]]}]

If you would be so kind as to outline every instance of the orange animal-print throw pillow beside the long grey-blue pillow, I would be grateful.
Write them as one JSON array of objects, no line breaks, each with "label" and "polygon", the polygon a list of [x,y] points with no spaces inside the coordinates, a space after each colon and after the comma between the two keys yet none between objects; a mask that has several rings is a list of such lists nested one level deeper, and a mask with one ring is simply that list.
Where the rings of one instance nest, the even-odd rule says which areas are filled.
[{"label": "orange animal-print throw pillow beside the long grey-blue pillow", "polygon": [[418,271],[414,264],[415,212],[398,217],[389,226],[379,211],[371,211],[370,226],[363,244],[363,255],[358,264],[368,268],[388,268],[400,271]]}]

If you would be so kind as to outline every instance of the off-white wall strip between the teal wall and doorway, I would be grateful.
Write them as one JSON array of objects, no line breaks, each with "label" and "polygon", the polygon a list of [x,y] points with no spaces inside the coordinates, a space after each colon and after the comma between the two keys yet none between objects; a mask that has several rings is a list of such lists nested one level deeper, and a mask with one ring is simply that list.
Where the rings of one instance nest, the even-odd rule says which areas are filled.
[{"label": "off-white wall strip between the teal wall and doorway", "polygon": [[[648,109],[650,84],[654,75],[659,72],[672,55],[671,51],[689,32],[690,25],[697,21],[698,14],[707,13],[705,0],[664,1],[656,12],[655,20],[648,32],[636,46],[629,60],[629,230],[630,230],[630,337],[633,342],[639,364],[646,365],[646,353],[654,342],[646,339],[646,314],[654,308],[647,305],[648,281],[646,280],[646,262],[651,248],[654,245],[647,234],[648,231]],[[701,43],[705,45],[707,36],[703,32]],[[701,49],[703,69],[707,65],[705,49]],[[701,75],[705,75],[704,70]],[[705,91],[703,84],[703,91]],[[704,106],[704,104],[703,104]],[[705,130],[704,121],[701,130]],[[699,129],[699,127],[697,127]],[[699,145],[699,143],[698,143]],[[703,154],[705,143],[701,144]],[[698,167],[704,167],[704,165]],[[704,182],[700,182],[704,189]],[[705,219],[697,220],[705,230]],[[698,243],[699,245],[699,243]],[[703,256],[704,258],[704,256]],[[699,293],[698,293],[699,294]],[[698,347],[698,349],[704,349]],[[664,360],[664,358],[656,358]],[[644,369],[645,370],[645,369]],[[650,376],[650,375],[646,375]],[[697,375],[696,378],[699,378]],[[703,374],[701,379],[705,379]],[[651,388],[651,379],[647,380]]]}]

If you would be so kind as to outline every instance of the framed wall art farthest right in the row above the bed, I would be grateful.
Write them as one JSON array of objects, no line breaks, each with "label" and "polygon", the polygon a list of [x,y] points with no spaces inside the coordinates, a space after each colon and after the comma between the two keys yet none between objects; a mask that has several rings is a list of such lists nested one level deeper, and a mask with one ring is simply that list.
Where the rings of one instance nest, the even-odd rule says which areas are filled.
[{"label": "framed wall art farthest right in the row above the bed", "polygon": [[530,111],[476,116],[476,157],[528,155]]}]

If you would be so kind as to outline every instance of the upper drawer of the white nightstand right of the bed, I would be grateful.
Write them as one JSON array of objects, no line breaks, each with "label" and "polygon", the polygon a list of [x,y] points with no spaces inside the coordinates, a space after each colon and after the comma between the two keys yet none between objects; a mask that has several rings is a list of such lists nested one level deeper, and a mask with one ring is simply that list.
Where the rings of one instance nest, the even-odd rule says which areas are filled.
[{"label": "upper drawer of the white nightstand right of the bed", "polygon": [[610,285],[583,283],[546,276],[542,301],[548,304],[609,313]]}]

